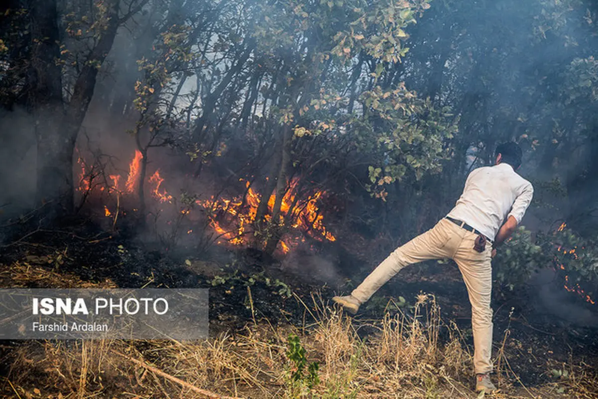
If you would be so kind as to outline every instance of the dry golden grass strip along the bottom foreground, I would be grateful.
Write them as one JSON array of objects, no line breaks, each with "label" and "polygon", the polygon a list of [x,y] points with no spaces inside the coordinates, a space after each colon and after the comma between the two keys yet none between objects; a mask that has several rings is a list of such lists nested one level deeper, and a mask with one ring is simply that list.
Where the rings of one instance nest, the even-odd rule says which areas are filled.
[{"label": "dry golden grass strip along the bottom foreground", "polygon": [[[54,278],[30,265],[13,266],[15,281],[21,273],[44,281]],[[23,342],[4,358],[10,372],[0,383],[0,396],[208,397],[199,393],[203,389],[243,398],[475,397],[469,386],[471,354],[456,325],[443,324],[434,296],[418,297],[415,318],[387,313],[382,320],[369,322],[354,321],[318,296],[303,304],[313,323],[301,328],[274,327],[263,319],[249,322],[243,331],[193,342]],[[358,330],[365,327],[376,328],[377,333],[362,339]],[[441,327],[449,331],[442,342]],[[290,378],[294,365],[286,355],[289,334],[297,334],[307,359],[319,363],[319,383],[311,389],[303,380]],[[508,367],[505,351],[500,354]],[[595,398],[596,375],[590,367],[572,364],[547,365],[547,372],[551,367],[568,370],[558,383],[522,389],[505,382],[508,394],[496,397]]]}]

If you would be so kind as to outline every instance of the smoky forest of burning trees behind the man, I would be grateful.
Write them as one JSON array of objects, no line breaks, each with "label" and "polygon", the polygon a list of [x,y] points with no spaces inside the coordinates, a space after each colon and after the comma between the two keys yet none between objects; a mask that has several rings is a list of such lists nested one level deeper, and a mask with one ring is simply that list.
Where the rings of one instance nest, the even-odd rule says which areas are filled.
[{"label": "smoky forest of burning trees behind the man", "polygon": [[[500,255],[502,278],[512,288],[530,264],[557,262],[574,273],[561,276],[568,289],[593,295],[597,11],[589,0],[11,0],[0,205],[10,217],[42,207],[45,220],[99,209],[113,229],[115,212],[134,211],[145,230],[156,197],[176,214],[201,208],[218,232],[259,192],[233,221],[239,234],[220,236],[272,253],[304,226],[390,249],[443,217],[499,142],[517,141],[534,234]],[[163,241],[193,230],[169,218],[178,230]]]}]

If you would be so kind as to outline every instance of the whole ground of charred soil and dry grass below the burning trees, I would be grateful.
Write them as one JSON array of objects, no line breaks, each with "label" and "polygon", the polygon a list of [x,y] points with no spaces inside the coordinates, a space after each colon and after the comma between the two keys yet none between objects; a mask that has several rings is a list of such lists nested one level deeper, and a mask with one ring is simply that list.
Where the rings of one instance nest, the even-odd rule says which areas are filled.
[{"label": "whole ground of charred soil and dry grass below the burning trees", "polygon": [[[7,242],[0,255],[3,288],[210,288],[210,338],[185,348],[149,341],[93,348],[85,342],[2,342],[5,397],[202,397],[181,381],[238,397],[395,397],[389,389],[401,392],[396,397],[471,396],[471,310],[450,264],[413,266],[358,316],[346,318],[329,299],[349,292],[350,283],[318,284],[257,250],[194,258],[191,251],[164,251],[89,223],[19,232]],[[532,293],[497,294],[493,306],[502,397],[597,397],[596,329],[538,312]],[[286,377],[293,367],[286,348],[291,334],[319,364],[313,388]],[[90,354],[104,363],[87,364]],[[193,357],[206,365],[197,366]],[[343,364],[349,374],[340,376],[335,367]],[[185,374],[185,367],[197,370]],[[383,374],[389,370],[392,378]]]}]

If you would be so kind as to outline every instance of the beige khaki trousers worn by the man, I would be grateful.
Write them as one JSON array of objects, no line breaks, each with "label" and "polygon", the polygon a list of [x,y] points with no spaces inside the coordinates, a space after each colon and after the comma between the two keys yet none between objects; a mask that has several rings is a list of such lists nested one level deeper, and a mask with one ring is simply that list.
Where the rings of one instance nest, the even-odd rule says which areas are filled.
[{"label": "beige khaki trousers worn by the man", "polygon": [[484,252],[474,249],[477,234],[442,219],[427,232],[395,249],[370,273],[352,295],[362,303],[396,275],[403,267],[429,259],[451,258],[459,266],[471,302],[471,324],[474,333],[475,373],[492,371],[492,245]]}]

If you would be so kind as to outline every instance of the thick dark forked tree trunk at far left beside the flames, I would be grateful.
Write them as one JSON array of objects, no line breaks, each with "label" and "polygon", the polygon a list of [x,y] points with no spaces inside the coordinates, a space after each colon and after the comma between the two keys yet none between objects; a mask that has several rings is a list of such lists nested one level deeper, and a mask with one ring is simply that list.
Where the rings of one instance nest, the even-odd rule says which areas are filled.
[{"label": "thick dark forked tree trunk at far left beside the flames", "polygon": [[62,76],[55,0],[32,0],[32,68],[30,83],[35,130],[38,139],[37,194],[50,201],[52,212],[68,214],[74,208],[73,153],[77,135],[93,96],[101,65],[118,29],[118,3],[109,5],[108,28],[81,68],[67,108],[62,104]]}]

